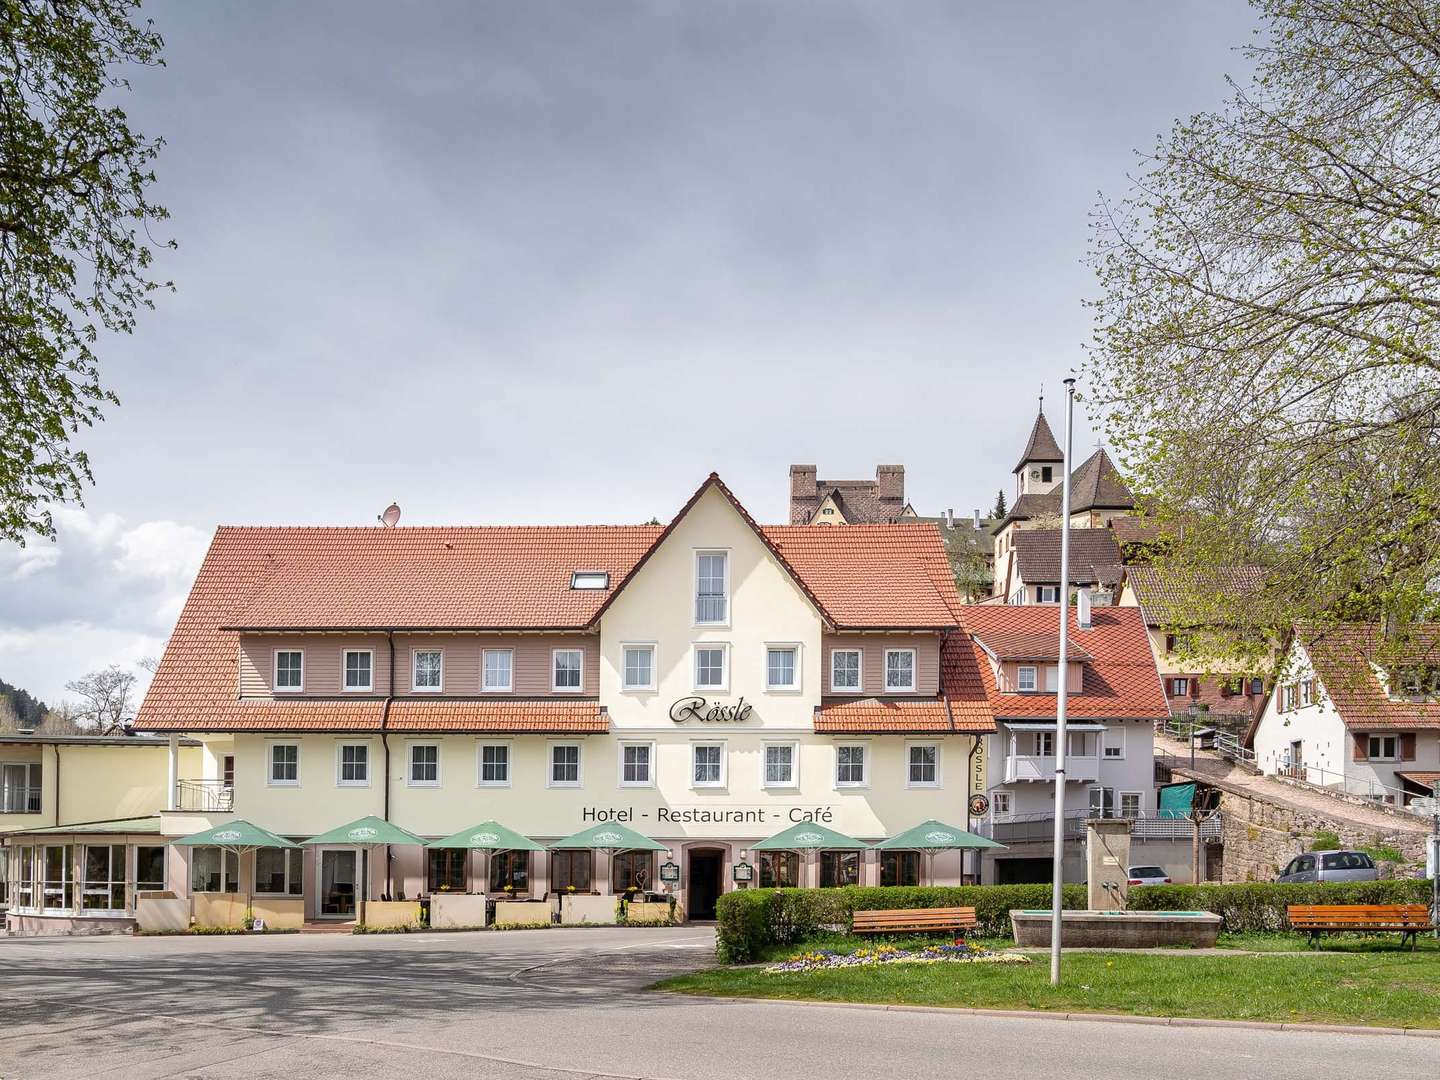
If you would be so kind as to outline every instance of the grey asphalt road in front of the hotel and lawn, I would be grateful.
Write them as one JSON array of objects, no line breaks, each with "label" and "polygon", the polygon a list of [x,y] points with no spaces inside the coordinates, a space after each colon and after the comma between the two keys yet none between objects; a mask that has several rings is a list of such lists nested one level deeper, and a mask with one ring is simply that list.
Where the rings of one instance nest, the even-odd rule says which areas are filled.
[{"label": "grey asphalt road in front of the hotel and lawn", "polygon": [[0,940],[0,1077],[1434,1074],[1434,1040],[648,994],[706,929]]}]

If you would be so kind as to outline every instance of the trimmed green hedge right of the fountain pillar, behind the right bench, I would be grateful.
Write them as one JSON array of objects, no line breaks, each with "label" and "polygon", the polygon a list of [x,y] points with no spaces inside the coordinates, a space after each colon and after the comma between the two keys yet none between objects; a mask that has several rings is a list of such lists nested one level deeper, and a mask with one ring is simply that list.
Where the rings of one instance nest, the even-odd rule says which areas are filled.
[{"label": "trimmed green hedge right of the fountain pillar, behind the right bench", "polygon": [[1287,904],[1428,904],[1430,881],[1344,881],[1279,884],[1244,881],[1233,886],[1136,886],[1132,912],[1214,912],[1225,933],[1287,930]]}]

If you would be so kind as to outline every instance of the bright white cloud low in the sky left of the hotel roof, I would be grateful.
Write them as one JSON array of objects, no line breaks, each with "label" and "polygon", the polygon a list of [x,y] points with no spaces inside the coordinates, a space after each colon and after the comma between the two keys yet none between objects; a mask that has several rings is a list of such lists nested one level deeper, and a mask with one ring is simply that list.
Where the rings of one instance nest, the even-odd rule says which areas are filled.
[{"label": "bright white cloud low in the sky left of the hotel roof", "polygon": [[0,678],[48,704],[69,680],[164,648],[209,541],[176,521],[75,507],[55,511],[55,531],[0,547]]}]

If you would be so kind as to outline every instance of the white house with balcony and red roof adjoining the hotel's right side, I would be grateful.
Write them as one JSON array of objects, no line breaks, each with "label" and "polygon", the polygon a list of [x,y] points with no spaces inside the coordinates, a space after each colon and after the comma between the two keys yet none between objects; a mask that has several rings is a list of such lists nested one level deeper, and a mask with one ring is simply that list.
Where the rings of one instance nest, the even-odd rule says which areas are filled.
[{"label": "white house with balcony and red roof adjoining the hotel's right side", "polygon": [[[972,605],[960,622],[971,635],[996,727],[985,755],[989,812],[984,828],[1007,850],[986,852],[984,878],[1051,880],[1057,708],[1064,680],[1064,876],[1083,880],[1084,818],[1155,815],[1153,724],[1169,710],[1145,621],[1135,608],[1096,608],[1084,616],[1071,609],[1064,672],[1058,605]],[[1188,858],[1181,861],[1188,864]]]}]

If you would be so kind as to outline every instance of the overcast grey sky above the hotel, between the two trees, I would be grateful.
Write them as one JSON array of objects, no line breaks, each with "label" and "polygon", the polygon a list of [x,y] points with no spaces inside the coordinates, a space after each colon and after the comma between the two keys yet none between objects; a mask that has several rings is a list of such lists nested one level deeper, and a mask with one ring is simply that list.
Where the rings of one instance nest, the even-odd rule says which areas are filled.
[{"label": "overcast grey sky above the hotel, between the two trees", "polygon": [[[1240,0],[154,3],[177,282],[96,487],[0,547],[0,678],[158,651],[220,523],[662,520],[711,469],[989,507],[1089,333],[1096,193]],[[1058,410],[1054,410],[1058,412]],[[1057,425],[1058,431],[1058,425]],[[1077,446],[1093,435],[1081,426]]]}]

